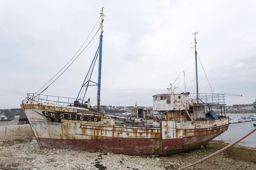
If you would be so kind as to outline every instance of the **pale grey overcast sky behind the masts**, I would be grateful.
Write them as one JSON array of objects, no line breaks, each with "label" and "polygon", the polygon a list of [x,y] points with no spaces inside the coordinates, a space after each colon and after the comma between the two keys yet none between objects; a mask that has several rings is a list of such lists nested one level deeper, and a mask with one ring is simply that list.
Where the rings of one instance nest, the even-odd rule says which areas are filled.
[{"label": "pale grey overcast sky behind the masts", "polygon": [[[152,106],[166,91],[194,92],[195,53],[214,93],[227,104],[256,99],[255,0],[0,1],[0,109],[19,108],[80,48],[104,6],[102,105]],[[96,26],[96,30],[99,24]],[[95,31],[96,31],[95,30]],[[76,98],[99,44],[99,34],[44,94]],[[97,67],[92,81],[97,81]],[[198,61],[201,93],[211,93]],[[86,98],[96,105],[96,87]]]}]

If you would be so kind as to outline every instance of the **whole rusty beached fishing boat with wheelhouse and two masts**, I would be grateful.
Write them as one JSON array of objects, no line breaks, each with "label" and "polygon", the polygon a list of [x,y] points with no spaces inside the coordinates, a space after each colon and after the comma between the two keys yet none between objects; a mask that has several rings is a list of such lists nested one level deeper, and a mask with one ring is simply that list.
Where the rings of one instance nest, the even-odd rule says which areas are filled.
[{"label": "whole rusty beached fishing boat with wheelhouse and two masts", "polygon": [[[92,82],[89,71],[81,87],[85,88],[84,95],[81,95],[81,90],[77,98],[28,94],[22,101],[21,107],[41,149],[65,148],[126,155],[168,156],[199,147],[228,129],[229,118],[222,115],[222,112],[221,116],[217,116],[211,110],[212,105],[225,107],[225,103],[209,102],[216,99],[216,96],[205,100],[205,95],[198,93],[198,81],[195,99],[189,98],[189,92],[176,94],[172,84],[168,93],[154,95],[153,110],[158,111],[158,120],[148,116],[151,111],[138,109],[134,110],[133,117],[102,113],[100,87],[103,9],[101,17],[99,47],[92,69],[89,69],[93,70],[99,54],[97,110],[90,108],[90,99],[85,101],[84,97],[79,98],[85,96],[89,83]],[[198,80],[197,67],[196,79]],[[224,95],[223,98],[221,96],[218,99],[224,101]],[[205,107],[209,108],[207,113]]]}]

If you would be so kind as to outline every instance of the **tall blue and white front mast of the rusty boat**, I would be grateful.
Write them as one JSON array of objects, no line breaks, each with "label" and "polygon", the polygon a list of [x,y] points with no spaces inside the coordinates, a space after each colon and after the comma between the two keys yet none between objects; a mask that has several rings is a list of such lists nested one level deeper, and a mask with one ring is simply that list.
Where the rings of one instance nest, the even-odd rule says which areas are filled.
[{"label": "tall blue and white front mast of the rusty boat", "polygon": [[102,37],[103,37],[103,8],[101,14],[101,23],[100,23],[100,37],[99,37],[99,71],[98,71],[98,90],[97,90],[97,111],[100,110],[100,87],[101,87],[101,71],[102,71]]}]

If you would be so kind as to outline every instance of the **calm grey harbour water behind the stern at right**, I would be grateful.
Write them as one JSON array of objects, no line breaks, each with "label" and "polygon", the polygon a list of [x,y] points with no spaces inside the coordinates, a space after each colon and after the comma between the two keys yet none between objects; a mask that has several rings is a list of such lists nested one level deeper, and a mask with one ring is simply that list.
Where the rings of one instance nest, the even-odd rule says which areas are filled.
[{"label": "calm grey harbour water behind the stern at right", "polygon": [[[250,114],[250,115],[255,115]],[[249,115],[247,114],[227,114],[229,117],[247,117]],[[217,136],[213,140],[223,140],[223,142],[232,143],[235,142],[237,139],[243,137],[250,131],[252,131],[256,126],[253,126],[253,123],[256,124],[256,121],[250,121],[250,122],[242,122],[242,123],[233,123],[229,124],[228,130],[222,133],[220,136]],[[256,132],[250,134],[245,139],[243,139],[238,144],[243,146],[250,146],[250,147],[256,147]]]}]

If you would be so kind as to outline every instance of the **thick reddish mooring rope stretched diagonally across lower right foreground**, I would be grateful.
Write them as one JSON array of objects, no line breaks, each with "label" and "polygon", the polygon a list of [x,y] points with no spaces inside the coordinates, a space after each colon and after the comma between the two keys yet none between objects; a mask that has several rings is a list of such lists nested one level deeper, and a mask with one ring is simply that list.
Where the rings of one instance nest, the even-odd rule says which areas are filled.
[{"label": "thick reddish mooring rope stretched diagonally across lower right foreground", "polygon": [[205,161],[205,160],[211,158],[212,156],[217,155],[218,153],[223,152],[224,150],[227,150],[228,148],[232,147],[233,145],[237,144],[238,142],[240,142],[241,140],[243,140],[244,138],[246,138],[247,136],[249,136],[250,134],[252,134],[255,130],[256,130],[256,128],[255,128],[254,130],[250,131],[249,133],[247,133],[245,136],[243,136],[243,137],[241,137],[240,139],[238,139],[237,141],[235,141],[235,142],[233,142],[233,143],[227,145],[226,147],[222,148],[221,150],[218,150],[217,152],[212,153],[211,155],[209,155],[209,156],[207,156],[207,157],[205,157],[205,158],[203,158],[203,159],[200,159],[200,160],[198,160],[198,161],[195,161],[194,163],[189,164],[189,165],[187,165],[187,166],[185,166],[185,167],[181,167],[181,168],[178,169],[178,170],[184,170],[184,169],[186,169],[186,168],[188,168],[188,167],[192,167],[192,166],[194,166],[194,165],[196,165],[196,164],[199,164],[199,163],[202,162],[202,161]]}]

